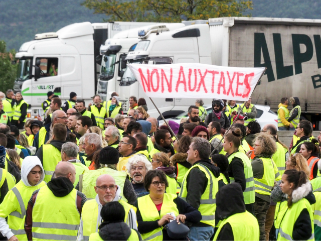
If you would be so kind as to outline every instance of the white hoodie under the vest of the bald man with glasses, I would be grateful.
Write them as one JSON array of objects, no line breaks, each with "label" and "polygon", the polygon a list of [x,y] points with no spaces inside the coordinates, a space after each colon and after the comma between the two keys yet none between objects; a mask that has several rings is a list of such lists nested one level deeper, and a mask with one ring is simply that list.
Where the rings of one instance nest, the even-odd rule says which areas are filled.
[{"label": "white hoodie under the vest of the bald man with glasses", "polygon": [[[101,203],[99,201],[98,194],[96,195],[95,199],[96,199],[96,202],[98,204],[98,220],[97,220],[97,225],[96,225],[96,232],[98,232],[98,226],[102,223],[102,219],[101,219],[101,216],[100,216],[100,211],[102,209],[102,205],[101,205]],[[115,197],[112,200],[112,202],[118,202],[120,199],[121,199],[120,188],[118,187],[117,191],[116,191],[116,194],[115,194]],[[132,208],[130,208],[130,210],[128,212],[126,224],[128,225],[129,228],[138,230],[136,212]],[[77,241],[83,241],[84,240],[82,225],[83,225],[83,221],[82,221],[82,218],[81,218],[80,219],[79,230],[78,230],[78,235],[77,235]]]}]

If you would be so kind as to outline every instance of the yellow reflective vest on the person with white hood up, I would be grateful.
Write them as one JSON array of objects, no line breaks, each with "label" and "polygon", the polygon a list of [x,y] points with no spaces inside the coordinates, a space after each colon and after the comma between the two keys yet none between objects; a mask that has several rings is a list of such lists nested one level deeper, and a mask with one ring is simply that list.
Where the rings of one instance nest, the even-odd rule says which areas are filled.
[{"label": "yellow reflective vest on the person with white hood up", "polygon": [[4,201],[0,204],[0,217],[8,217],[9,228],[15,235],[26,234],[23,220],[28,201],[33,192],[43,186],[46,186],[44,181],[33,187],[26,186],[23,181],[20,181],[7,193]]}]

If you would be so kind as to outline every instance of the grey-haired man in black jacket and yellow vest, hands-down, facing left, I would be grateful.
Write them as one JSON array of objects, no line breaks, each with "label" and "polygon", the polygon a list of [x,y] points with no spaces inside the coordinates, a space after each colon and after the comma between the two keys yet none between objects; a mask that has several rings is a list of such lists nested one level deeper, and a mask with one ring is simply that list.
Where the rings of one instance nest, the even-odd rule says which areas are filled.
[{"label": "grey-haired man in black jacket and yellow vest, hands-down, facing left", "polygon": [[[211,144],[209,141],[200,137],[193,138],[187,157],[187,161],[191,163],[192,167],[183,180],[179,196],[186,198],[186,201],[195,209],[199,209],[201,205],[206,205],[206,210],[214,209],[213,211],[215,211],[215,206],[213,206],[215,202],[213,202],[212,198],[215,197],[218,191],[217,178],[220,176],[220,169],[211,163],[209,159],[210,153]],[[208,179],[208,176],[211,180]],[[209,181],[211,181],[211,185],[208,185]],[[184,190],[185,188],[186,190]],[[186,192],[187,194],[185,194]],[[202,198],[205,192],[210,193],[207,200],[204,197]],[[191,240],[199,240],[200,238],[201,240],[210,240],[214,234],[214,222],[213,225],[207,222],[214,221],[211,220],[212,216],[214,219],[214,213],[209,214],[207,211],[202,213],[202,210],[205,212],[204,207],[199,211],[201,211],[202,216],[207,218],[190,227],[189,237]]]}]

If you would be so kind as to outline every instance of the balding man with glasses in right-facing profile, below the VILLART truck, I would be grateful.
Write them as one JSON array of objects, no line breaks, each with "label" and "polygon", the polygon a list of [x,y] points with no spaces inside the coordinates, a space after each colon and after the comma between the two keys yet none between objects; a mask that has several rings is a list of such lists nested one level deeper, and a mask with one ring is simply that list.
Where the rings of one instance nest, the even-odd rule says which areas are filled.
[{"label": "balding man with glasses in right-facing profile, below the VILLART truck", "polygon": [[55,112],[53,112],[51,116],[51,123],[42,127],[40,131],[37,133],[33,144],[33,146],[37,148],[37,151],[42,145],[47,143],[49,139],[52,139],[53,129],[55,124],[57,123],[67,126],[68,117],[65,111],[58,109]]}]

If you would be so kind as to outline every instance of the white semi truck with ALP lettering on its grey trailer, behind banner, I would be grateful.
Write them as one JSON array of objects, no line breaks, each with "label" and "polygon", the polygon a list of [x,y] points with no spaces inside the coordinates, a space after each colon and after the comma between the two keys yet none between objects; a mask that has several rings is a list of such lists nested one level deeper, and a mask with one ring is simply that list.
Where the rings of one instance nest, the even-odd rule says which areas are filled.
[{"label": "white semi truck with ALP lettering on its grey trailer, behind banner", "polygon": [[[297,96],[301,116],[321,129],[321,20],[276,18],[216,18],[183,22],[186,26],[163,33],[143,33],[129,63],[206,63],[233,67],[266,67],[252,103],[277,111],[282,97]],[[205,24],[204,24],[205,23]],[[120,82],[120,99],[144,97],[129,68]],[[202,96],[200,96],[201,98]],[[165,115],[186,110],[194,99],[154,99]],[[292,106],[288,107],[289,109]],[[174,111],[174,112],[173,112]],[[148,113],[155,110],[148,110]]]}]

